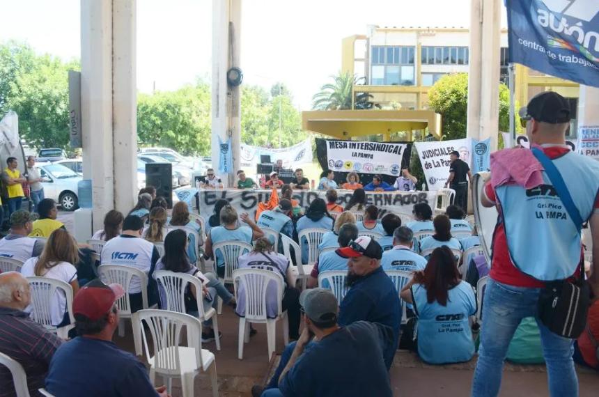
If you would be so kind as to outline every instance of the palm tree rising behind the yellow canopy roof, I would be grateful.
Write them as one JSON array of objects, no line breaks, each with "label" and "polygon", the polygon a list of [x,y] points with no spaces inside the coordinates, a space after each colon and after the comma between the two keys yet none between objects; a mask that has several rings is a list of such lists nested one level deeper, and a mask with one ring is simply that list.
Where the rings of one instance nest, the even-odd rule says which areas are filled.
[{"label": "palm tree rising behind the yellow canopy roof", "polygon": [[[320,92],[312,97],[312,108],[315,110],[346,110],[352,109],[352,87],[364,84],[364,78],[357,78],[348,72],[339,72],[331,76],[334,82],[320,87]],[[354,103],[355,109],[372,109],[379,104],[371,102],[373,95],[369,93],[357,93]]]}]

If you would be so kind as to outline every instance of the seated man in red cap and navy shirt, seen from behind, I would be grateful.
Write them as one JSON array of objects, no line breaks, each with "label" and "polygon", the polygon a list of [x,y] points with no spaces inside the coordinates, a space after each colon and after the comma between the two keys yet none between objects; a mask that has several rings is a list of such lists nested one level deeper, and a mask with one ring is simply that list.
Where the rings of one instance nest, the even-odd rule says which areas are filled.
[{"label": "seated man in red cap and navy shirt, seen from behind", "polygon": [[112,336],[118,327],[116,300],[125,295],[118,284],[95,279],[73,299],[75,329],[79,336],[56,350],[45,389],[54,396],[165,396],[155,389],[146,367],[134,355],[120,350]]}]

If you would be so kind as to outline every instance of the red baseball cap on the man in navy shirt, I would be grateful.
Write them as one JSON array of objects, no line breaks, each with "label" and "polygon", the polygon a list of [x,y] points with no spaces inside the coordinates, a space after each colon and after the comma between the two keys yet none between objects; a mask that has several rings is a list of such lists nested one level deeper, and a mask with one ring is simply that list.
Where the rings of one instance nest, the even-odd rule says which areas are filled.
[{"label": "red baseball cap on the man in navy shirt", "polygon": [[73,314],[100,320],[112,309],[114,302],[123,296],[125,290],[120,284],[106,285],[99,279],[92,280],[77,291],[73,299]]}]

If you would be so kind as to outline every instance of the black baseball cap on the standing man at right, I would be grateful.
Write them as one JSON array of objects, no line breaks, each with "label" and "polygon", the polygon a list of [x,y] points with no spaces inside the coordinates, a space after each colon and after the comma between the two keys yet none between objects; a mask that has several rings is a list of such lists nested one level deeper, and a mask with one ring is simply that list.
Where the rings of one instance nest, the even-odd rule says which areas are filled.
[{"label": "black baseball cap on the standing man at right", "polygon": [[570,122],[570,103],[559,93],[545,91],[535,95],[527,106],[520,109],[519,114],[520,118],[524,120],[534,118],[537,121],[550,124],[568,123]]}]

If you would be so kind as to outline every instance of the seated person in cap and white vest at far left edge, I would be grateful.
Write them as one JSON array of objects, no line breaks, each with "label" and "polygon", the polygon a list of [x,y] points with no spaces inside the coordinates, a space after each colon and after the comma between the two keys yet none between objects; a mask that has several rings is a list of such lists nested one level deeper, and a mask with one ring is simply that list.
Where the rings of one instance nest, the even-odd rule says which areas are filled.
[{"label": "seated person in cap and white vest at far left edge", "polygon": [[0,256],[24,262],[42,254],[44,242],[27,237],[33,231],[35,218],[26,210],[17,210],[10,215],[10,231],[0,240]]}]

